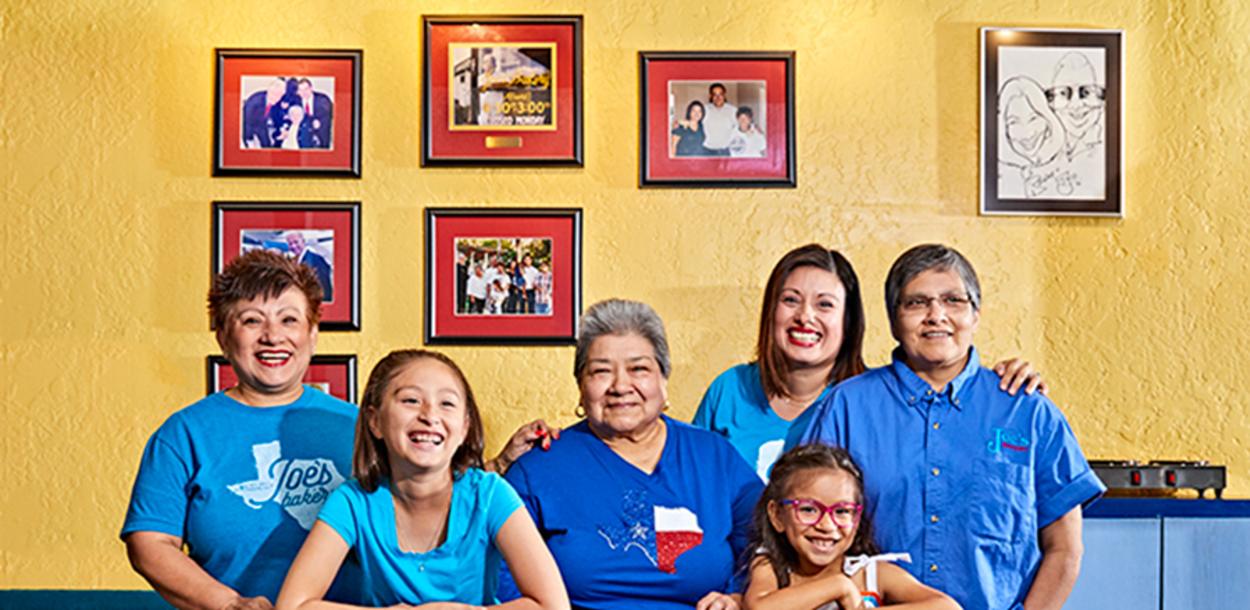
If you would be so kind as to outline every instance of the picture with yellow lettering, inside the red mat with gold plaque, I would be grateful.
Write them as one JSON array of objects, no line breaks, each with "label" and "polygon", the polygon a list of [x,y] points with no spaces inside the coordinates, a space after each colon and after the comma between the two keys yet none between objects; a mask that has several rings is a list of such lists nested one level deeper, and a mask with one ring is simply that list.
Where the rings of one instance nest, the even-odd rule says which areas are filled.
[{"label": "picture with yellow lettering, inside the red mat with gold plaque", "polygon": [[555,45],[450,50],[450,129],[555,129]]}]

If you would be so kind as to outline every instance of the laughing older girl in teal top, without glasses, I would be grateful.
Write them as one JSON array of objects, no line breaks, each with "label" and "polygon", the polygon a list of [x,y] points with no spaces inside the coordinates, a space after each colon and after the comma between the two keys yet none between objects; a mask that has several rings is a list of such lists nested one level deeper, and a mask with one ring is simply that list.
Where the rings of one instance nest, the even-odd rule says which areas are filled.
[{"label": "laughing older girl in teal top, without glasses", "polygon": [[349,608],[322,596],[350,552],[370,606],[491,606],[502,559],[521,598],[498,608],[569,610],[534,521],[502,478],[480,470],[481,451],[481,416],[460,368],[436,351],[388,354],[356,419],[355,480],[325,501],[278,608]]}]

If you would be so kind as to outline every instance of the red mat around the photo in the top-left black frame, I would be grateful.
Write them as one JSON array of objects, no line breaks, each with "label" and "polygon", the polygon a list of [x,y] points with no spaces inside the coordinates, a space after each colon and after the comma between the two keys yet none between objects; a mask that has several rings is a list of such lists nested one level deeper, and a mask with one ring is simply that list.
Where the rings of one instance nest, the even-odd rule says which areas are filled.
[{"label": "red mat around the photo in the top-left black frame", "polygon": [[[334,76],[334,142],[332,150],[282,150],[244,149],[239,142],[242,134],[242,100],[240,78],[252,75],[275,76]],[[352,60],[292,59],[292,58],[225,58],[221,69],[221,100],[218,138],[221,139],[222,169],[315,169],[350,170],[352,166],[352,116],[359,100],[352,95]]]}]

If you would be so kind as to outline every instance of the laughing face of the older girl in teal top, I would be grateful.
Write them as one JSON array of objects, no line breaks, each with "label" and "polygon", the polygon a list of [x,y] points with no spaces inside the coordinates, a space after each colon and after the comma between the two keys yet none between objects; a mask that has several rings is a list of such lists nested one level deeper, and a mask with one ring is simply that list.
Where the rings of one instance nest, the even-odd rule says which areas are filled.
[{"label": "laughing face of the older girl in teal top", "polygon": [[420,358],[386,385],[369,408],[369,431],[386,445],[391,475],[450,469],[469,432],[466,391],[450,366]]}]

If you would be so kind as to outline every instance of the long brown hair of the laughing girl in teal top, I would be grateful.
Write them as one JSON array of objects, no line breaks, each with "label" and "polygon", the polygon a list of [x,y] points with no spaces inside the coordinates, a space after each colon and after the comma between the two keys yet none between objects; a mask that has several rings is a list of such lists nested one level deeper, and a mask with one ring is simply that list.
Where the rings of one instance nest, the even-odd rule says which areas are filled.
[{"label": "long brown hair of the laughing girl in teal top", "polygon": [[451,471],[455,476],[464,474],[465,469],[481,468],[481,452],[485,439],[481,430],[481,414],[478,411],[478,401],[472,396],[472,388],[464,371],[456,366],[446,355],[430,350],[395,350],[386,354],[369,374],[369,382],[365,384],[365,396],[360,401],[360,412],[356,415],[356,441],[351,452],[351,475],[360,481],[360,488],[365,491],[374,491],[382,479],[391,476],[390,456],[386,454],[386,442],[375,438],[369,430],[369,418],[376,409],[381,409],[386,398],[386,389],[391,381],[399,376],[400,371],[418,360],[436,360],[448,365],[460,385],[465,390],[465,415],[469,419],[469,429],[465,430],[465,441],[451,456]]}]

